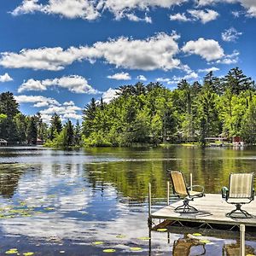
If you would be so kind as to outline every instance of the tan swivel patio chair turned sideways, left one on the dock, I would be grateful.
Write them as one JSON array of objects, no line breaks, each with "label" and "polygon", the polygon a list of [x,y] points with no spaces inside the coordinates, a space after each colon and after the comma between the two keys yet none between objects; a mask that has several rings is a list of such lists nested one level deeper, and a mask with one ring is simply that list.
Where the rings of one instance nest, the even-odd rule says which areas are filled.
[{"label": "tan swivel patio chair turned sideways, left one on the dock", "polygon": [[[196,213],[199,212],[195,207],[189,205],[189,201],[194,201],[195,198],[199,198],[205,195],[204,188],[199,185],[187,187],[185,178],[182,172],[171,172],[171,181],[173,186],[173,192],[179,198],[183,199],[183,205],[175,208],[174,212],[179,213]],[[196,191],[196,190],[199,191]]]}]

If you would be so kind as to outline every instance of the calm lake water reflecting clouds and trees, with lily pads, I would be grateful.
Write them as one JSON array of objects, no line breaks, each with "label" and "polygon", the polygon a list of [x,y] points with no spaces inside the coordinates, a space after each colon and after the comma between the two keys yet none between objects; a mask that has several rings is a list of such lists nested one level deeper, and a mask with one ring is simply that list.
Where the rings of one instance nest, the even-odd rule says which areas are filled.
[{"label": "calm lake water reflecting clouds and trees, with lily pads", "polygon": [[[148,183],[156,210],[168,170],[188,182],[192,172],[219,193],[230,172],[253,172],[255,163],[256,148],[0,148],[0,255],[226,255],[238,232],[173,228],[169,240],[156,231],[148,240]],[[202,236],[191,243],[195,231]],[[247,254],[256,253],[254,235]],[[181,239],[189,254],[173,249]]]}]

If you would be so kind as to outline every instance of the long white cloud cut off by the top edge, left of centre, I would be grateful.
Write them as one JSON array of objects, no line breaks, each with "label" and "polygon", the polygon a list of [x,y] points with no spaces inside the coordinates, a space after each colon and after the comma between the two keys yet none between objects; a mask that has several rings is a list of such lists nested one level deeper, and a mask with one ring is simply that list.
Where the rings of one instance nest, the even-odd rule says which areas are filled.
[{"label": "long white cloud cut off by the top edge, left of centre", "polygon": [[108,9],[115,19],[127,17],[132,21],[152,20],[147,15],[139,18],[134,15],[135,10],[148,11],[154,7],[171,8],[188,2],[188,0],[49,0],[47,3],[39,3],[39,0],[23,0],[20,6],[15,8],[12,15],[25,15],[41,12],[46,15],[61,15],[68,19],[96,20],[102,12]]}]

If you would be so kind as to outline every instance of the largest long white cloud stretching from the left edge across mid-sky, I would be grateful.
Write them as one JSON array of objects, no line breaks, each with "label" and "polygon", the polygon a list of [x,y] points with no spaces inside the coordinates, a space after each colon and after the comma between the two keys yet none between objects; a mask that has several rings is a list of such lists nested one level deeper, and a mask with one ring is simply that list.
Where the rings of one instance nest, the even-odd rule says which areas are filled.
[{"label": "largest long white cloud stretching from the left edge across mid-sky", "polygon": [[61,47],[22,49],[20,53],[3,52],[0,65],[10,68],[33,68],[61,70],[73,61],[103,59],[116,67],[142,70],[171,70],[180,61],[174,56],[178,53],[177,33],[158,33],[144,40],[117,38],[107,42],[96,42],[88,47]]}]

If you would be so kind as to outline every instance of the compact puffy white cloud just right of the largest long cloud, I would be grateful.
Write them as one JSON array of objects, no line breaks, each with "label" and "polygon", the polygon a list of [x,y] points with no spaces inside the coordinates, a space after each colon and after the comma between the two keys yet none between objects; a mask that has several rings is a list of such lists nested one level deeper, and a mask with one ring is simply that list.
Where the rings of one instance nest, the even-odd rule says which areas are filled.
[{"label": "compact puffy white cloud just right of the largest long cloud", "polygon": [[224,56],[224,49],[220,47],[217,41],[204,38],[189,41],[183,46],[183,52],[201,55],[207,61],[218,60]]}]

